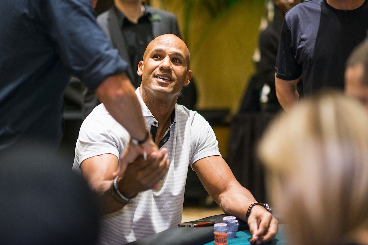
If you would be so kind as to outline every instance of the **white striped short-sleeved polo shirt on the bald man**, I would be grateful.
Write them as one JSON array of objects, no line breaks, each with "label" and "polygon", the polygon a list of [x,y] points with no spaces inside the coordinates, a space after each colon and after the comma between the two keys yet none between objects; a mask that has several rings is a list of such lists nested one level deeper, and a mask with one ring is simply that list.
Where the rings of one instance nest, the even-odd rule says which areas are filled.
[{"label": "white striped short-sleeved polo shirt on the bald man", "polygon": [[[139,88],[136,94],[147,128],[158,126],[157,120],[144,104]],[[220,155],[215,133],[201,115],[183,105],[175,105],[174,112],[174,122],[168,129],[170,137],[163,145],[168,149],[170,160],[166,177],[160,181],[157,190],[140,192],[133,203],[104,215],[99,244],[120,245],[177,226],[183,212],[188,164],[192,165],[207,156]],[[73,169],[80,172],[80,163],[91,156],[110,153],[119,159],[129,137],[104,105],[98,105],[82,123]]]}]

